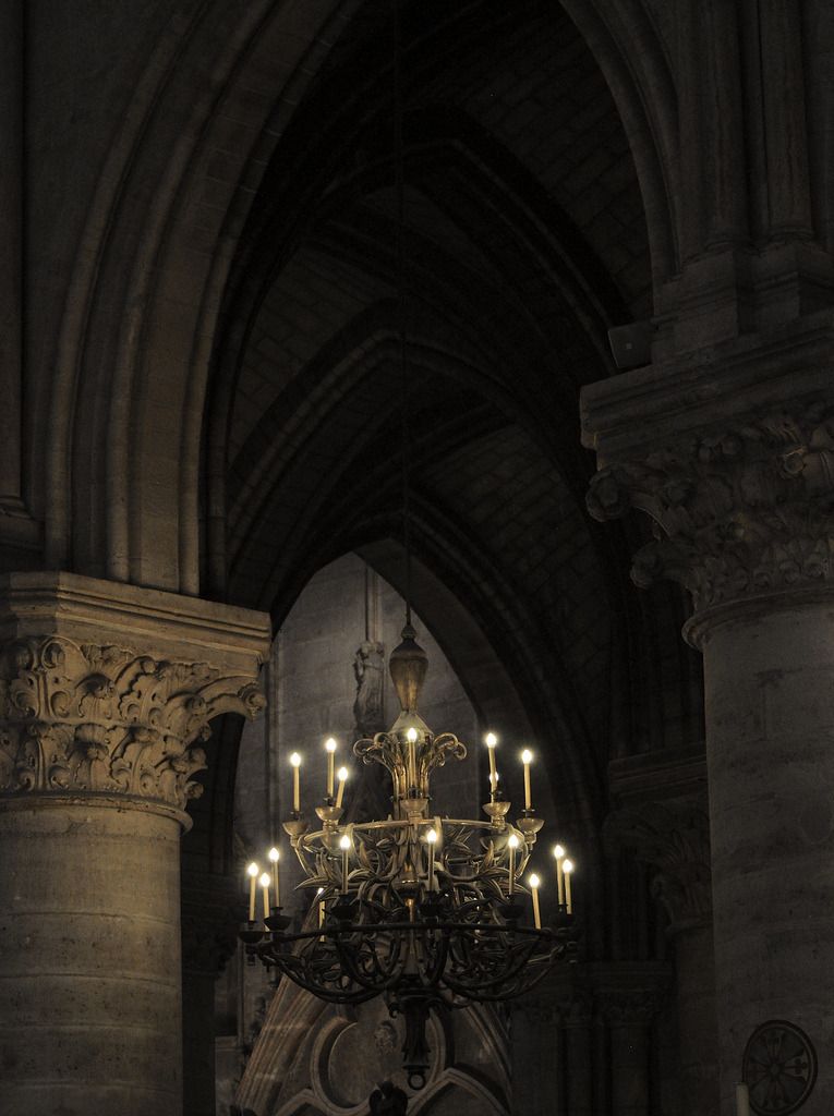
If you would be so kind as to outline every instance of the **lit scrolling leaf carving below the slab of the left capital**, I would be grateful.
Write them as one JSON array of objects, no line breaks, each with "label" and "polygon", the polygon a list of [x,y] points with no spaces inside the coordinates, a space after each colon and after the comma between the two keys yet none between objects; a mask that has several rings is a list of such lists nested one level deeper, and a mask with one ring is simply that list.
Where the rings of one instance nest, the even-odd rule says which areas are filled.
[{"label": "lit scrolling leaf carving below the slab of the left capital", "polygon": [[202,793],[200,742],[226,712],[255,716],[252,680],[63,636],[0,650],[0,792],[135,795],[178,809]]}]

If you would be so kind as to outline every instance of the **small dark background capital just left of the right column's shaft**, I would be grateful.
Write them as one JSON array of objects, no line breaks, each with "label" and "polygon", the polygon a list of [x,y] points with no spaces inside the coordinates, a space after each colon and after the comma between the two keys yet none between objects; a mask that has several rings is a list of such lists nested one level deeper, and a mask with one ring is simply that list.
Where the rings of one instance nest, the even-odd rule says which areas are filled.
[{"label": "small dark background capital just left of the right column's shaft", "polygon": [[626,806],[606,819],[605,838],[632,849],[654,869],[652,893],[665,907],[672,933],[709,923],[712,878],[706,804],[678,800]]}]

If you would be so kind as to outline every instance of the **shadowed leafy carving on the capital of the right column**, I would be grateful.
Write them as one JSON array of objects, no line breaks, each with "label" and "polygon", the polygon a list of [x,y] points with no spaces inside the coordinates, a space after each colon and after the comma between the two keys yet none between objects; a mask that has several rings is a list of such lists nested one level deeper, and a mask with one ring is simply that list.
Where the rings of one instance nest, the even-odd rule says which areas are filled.
[{"label": "shadowed leafy carving on the capital of the right column", "polygon": [[592,479],[597,520],[646,512],[632,579],[680,581],[696,609],[834,579],[834,407],[700,431]]}]

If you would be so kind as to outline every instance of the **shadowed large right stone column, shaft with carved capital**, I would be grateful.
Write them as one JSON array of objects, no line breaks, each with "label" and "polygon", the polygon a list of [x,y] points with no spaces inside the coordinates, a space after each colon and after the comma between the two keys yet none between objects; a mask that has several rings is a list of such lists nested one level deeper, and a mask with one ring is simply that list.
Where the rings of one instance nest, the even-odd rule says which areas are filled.
[{"label": "shadowed large right stone column, shaft with carved capital", "polygon": [[[694,604],[723,1116],[760,1024],[834,1046],[834,337],[818,324],[758,341],[595,385],[585,415],[605,466],[592,512],[648,511],[655,538],[632,576],[673,577]],[[813,1051],[801,1061],[792,1094]],[[834,1108],[832,1059],[812,1093],[808,1110]]]}]

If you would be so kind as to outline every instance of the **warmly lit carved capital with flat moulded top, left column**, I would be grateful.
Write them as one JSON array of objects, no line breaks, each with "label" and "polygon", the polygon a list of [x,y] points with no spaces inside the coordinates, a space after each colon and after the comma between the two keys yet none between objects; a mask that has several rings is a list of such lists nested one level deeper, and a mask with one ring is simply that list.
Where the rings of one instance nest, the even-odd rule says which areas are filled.
[{"label": "warmly lit carved capital with flat moulded top, left column", "polygon": [[183,811],[202,792],[193,777],[212,718],[265,704],[265,618],[74,575],[3,580],[0,796],[95,793]]}]

